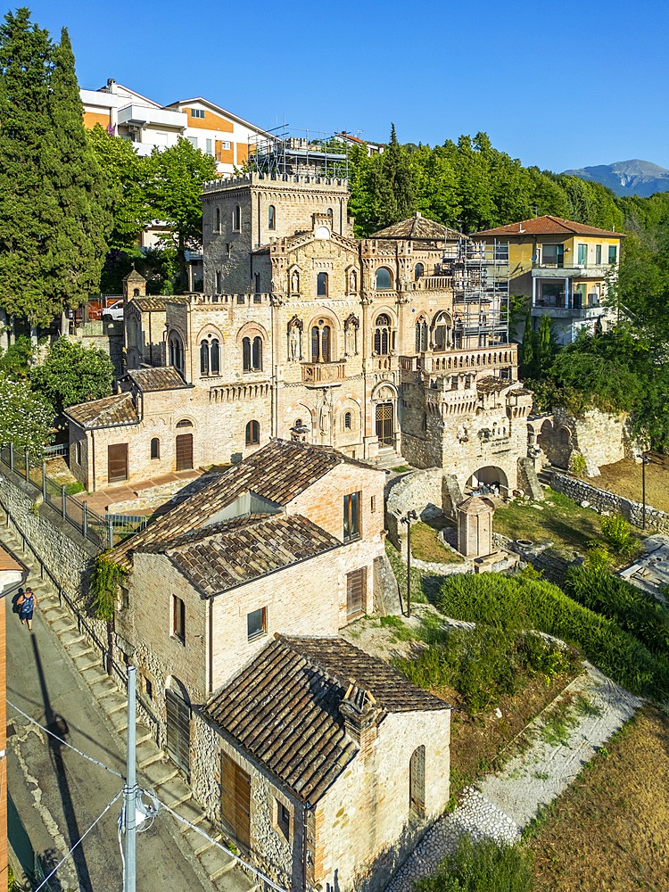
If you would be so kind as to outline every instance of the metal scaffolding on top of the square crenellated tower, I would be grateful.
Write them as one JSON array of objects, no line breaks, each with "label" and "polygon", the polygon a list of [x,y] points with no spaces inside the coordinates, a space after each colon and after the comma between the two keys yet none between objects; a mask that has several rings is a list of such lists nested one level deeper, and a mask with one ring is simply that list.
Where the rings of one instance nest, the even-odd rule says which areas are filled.
[{"label": "metal scaffolding on top of the square crenellated tower", "polygon": [[348,179],[348,140],[321,130],[289,130],[282,124],[268,135],[249,136],[249,167],[269,178]]}]

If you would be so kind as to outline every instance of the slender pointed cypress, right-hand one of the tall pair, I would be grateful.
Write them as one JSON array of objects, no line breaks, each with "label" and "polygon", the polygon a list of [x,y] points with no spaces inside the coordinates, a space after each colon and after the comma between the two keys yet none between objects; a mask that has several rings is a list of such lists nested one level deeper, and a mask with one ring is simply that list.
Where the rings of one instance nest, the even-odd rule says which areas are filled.
[{"label": "slender pointed cypress, right-hand one of the tall pair", "polygon": [[[105,186],[84,128],[84,109],[67,29],[54,47],[50,119],[54,191],[59,219],[48,241],[50,294],[62,309],[77,307],[100,283],[111,214]],[[47,186],[47,187],[48,187]]]}]

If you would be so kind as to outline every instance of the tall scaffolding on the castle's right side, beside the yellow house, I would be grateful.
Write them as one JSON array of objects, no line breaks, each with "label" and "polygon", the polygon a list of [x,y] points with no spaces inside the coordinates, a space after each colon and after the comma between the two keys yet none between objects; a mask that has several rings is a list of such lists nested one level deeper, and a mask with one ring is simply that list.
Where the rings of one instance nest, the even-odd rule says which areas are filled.
[{"label": "tall scaffolding on the castle's right side, beside the yellow house", "polygon": [[453,283],[454,347],[508,343],[508,242],[446,242],[442,273]]}]

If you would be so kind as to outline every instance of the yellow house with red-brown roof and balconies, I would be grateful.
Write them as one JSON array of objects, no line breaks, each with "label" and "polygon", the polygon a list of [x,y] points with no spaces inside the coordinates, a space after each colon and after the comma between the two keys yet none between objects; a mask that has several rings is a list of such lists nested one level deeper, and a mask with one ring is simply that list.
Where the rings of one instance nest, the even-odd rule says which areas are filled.
[{"label": "yellow house with red-brown roof and balconies", "polygon": [[489,244],[508,241],[509,293],[531,301],[533,324],[553,321],[558,343],[583,328],[605,328],[612,312],[607,288],[617,275],[624,235],[559,217],[535,217],[476,233]]}]

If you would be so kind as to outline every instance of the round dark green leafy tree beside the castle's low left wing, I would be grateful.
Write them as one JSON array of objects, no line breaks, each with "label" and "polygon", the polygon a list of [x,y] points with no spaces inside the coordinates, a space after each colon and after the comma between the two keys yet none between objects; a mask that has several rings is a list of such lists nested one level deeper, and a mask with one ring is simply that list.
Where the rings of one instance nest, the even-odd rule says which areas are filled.
[{"label": "round dark green leafy tree beside the castle's low left wing", "polygon": [[61,337],[45,361],[32,368],[30,384],[61,413],[78,402],[109,396],[113,374],[105,352]]}]

